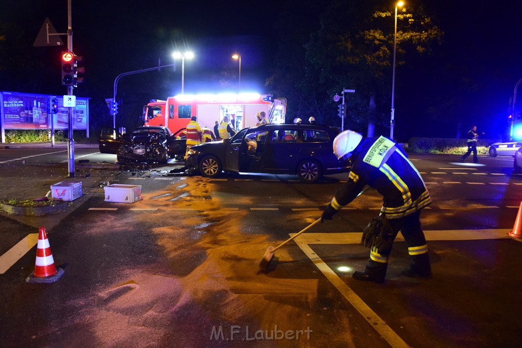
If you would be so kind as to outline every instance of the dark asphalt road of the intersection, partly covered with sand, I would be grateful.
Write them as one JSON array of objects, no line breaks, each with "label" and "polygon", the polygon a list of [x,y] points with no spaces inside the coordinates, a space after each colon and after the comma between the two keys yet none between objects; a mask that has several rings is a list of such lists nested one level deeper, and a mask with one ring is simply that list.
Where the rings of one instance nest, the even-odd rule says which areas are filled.
[{"label": "dark asphalt road of the intersection, partly covered with sand", "polygon": [[[45,151],[53,150],[0,164],[0,175],[63,160]],[[94,152],[76,155],[114,162]],[[410,158],[433,198],[421,214],[432,279],[400,275],[408,267],[400,238],[384,284],[350,277],[369,255],[359,241],[380,208],[372,191],[279,249],[259,272],[268,245],[317,219],[346,175],[302,184],[293,176],[173,175],[181,165],[174,162],[127,169],[111,183],[141,185],[143,200],[105,202],[92,188],[48,231],[62,279],[25,282],[35,247],[0,274],[3,345],[520,346],[522,244],[506,233],[522,175],[507,157],[480,157],[479,165],[456,155]],[[0,226],[4,255],[38,232],[5,215]]]}]

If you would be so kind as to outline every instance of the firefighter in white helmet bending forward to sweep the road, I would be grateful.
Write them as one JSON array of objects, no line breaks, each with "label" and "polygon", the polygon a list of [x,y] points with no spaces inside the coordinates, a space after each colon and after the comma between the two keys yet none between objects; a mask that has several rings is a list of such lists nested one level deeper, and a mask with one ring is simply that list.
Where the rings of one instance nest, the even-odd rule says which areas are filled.
[{"label": "firefighter in white helmet bending forward to sweep the road", "polygon": [[[421,229],[420,212],[431,203],[430,194],[421,175],[396,143],[383,136],[365,138],[345,130],[334,139],[334,153],[339,159],[352,162],[348,181],[343,184],[326,207],[322,220],[331,220],[343,206],[350,203],[365,185],[383,195],[381,218],[387,229],[378,235],[363,233],[363,242],[371,247],[364,272],[352,277],[362,281],[384,282],[393,241],[401,231],[410,255],[408,277],[430,277],[428,246]],[[384,217],[382,216],[384,215]]]}]

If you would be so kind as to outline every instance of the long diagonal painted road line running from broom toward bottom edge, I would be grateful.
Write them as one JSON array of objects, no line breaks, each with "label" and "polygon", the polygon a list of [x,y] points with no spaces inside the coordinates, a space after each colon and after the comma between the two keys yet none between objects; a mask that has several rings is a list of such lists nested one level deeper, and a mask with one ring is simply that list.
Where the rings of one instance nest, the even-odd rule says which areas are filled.
[{"label": "long diagonal painted road line running from broom toward bottom edge", "polygon": [[303,252],[314,262],[315,266],[325,277],[337,287],[337,290],[357,309],[357,311],[364,317],[370,325],[377,330],[379,334],[388,342],[392,347],[408,347],[395,331],[393,331],[383,319],[381,319],[362,299],[353,292],[350,287],[339,278],[339,276],[330,268],[326,263],[314,253],[312,248],[303,243],[298,243],[299,247]]}]

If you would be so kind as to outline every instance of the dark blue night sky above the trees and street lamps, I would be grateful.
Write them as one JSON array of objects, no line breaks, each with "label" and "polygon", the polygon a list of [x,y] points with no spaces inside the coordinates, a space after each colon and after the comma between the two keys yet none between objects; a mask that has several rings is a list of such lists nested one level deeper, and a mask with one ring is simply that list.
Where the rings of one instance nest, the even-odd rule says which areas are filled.
[{"label": "dark blue night sky above the trees and street lamps", "polygon": [[[270,75],[270,64],[277,50],[278,38],[273,23],[280,2],[72,1],[74,51],[86,56],[87,67],[103,62],[122,62],[112,71],[112,79],[124,71],[154,66],[158,59],[162,64],[169,64],[174,49],[187,47],[194,50],[196,59],[185,64],[185,92],[191,88],[199,92],[201,87],[191,79],[191,73],[194,76],[194,70],[212,67],[233,69],[238,63],[230,59],[230,55],[238,51],[242,55],[242,84],[266,92],[263,85]],[[23,28],[22,38],[28,45],[32,45],[45,17],[50,18],[58,32],[66,30],[66,0],[3,0],[2,3],[0,19],[16,22]],[[394,2],[389,3],[393,8]],[[475,77],[481,83],[476,91],[477,103],[484,106],[474,116],[479,128],[494,128],[496,118],[505,116],[515,83],[522,78],[519,43],[522,4],[507,0],[410,0],[406,3],[406,6],[422,3],[444,31],[444,42],[434,52],[441,66],[458,62],[476,71]],[[181,35],[172,41],[172,33]],[[167,36],[168,40],[162,39]],[[59,47],[35,47],[34,50],[59,69],[55,58],[61,51]],[[121,70],[116,71],[118,68]],[[96,71],[93,67],[89,69]],[[405,78],[400,70],[397,71],[399,78]],[[445,88],[437,85],[437,81],[422,82],[424,86],[419,89],[425,88],[431,93]],[[179,85],[179,81],[173,84],[172,94],[179,92],[176,90]],[[112,84],[102,88],[108,96],[112,94]],[[397,109],[401,106],[404,104],[397,102]]]}]

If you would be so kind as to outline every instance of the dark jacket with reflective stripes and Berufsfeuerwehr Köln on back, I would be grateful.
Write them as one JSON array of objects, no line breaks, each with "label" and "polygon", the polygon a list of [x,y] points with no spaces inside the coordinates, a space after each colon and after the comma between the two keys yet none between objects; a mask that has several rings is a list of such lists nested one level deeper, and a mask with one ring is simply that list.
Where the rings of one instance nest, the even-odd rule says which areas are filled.
[{"label": "dark jacket with reflective stripes and Berufsfeuerwehr K\u00f6ln on back", "polygon": [[383,196],[381,211],[388,219],[405,217],[431,203],[421,175],[392,140],[365,138],[353,150],[351,159],[348,181],[331,201],[334,209],[346,206],[366,185]]}]

